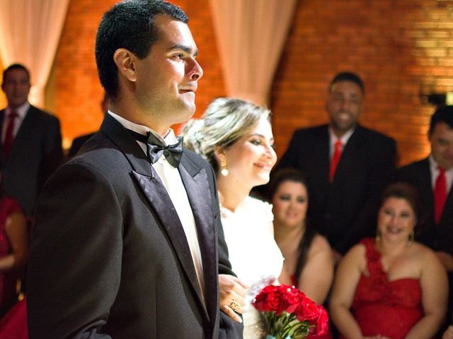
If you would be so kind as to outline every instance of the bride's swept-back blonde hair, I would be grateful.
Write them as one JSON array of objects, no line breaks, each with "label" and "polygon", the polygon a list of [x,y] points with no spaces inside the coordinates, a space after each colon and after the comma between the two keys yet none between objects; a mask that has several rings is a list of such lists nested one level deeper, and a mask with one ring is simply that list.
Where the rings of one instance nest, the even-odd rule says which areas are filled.
[{"label": "bride's swept-back blonde hair", "polygon": [[202,119],[191,119],[183,129],[184,145],[219,170],[215,150],[226,150],[246,136],[260,119],[270,120],[270,110],[241,99],[219,97]]}]

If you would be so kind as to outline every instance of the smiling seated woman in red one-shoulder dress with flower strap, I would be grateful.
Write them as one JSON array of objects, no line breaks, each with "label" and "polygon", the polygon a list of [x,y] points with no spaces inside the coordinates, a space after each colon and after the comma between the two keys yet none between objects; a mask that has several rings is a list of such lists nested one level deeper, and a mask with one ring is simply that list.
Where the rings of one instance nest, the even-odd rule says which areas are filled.
[{"label": "smiling seated woman in red one-shoulder dress with flower strap", "polygon": [[447,309],[447,273],[415,242],[418,192],[393,184],[383,194],[376,239],[363,239],[338,266],[330,315],[343,338],[432,338]]}]

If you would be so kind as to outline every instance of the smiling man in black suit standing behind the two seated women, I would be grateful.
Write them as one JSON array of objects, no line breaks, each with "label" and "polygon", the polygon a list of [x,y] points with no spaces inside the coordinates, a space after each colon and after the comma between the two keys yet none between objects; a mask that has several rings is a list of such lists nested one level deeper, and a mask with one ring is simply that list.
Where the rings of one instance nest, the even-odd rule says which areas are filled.
[{"label": "smiling man in black suit standing behind the two seated women", "polygon": [[294,132],[278,168],[301,170],[309,184],[309,221],[345,254],[373,234],[377,200],[394,177],[392,138],[357,123],[365,95],[362,80],[343,72],[328,88],[330,124]]}]

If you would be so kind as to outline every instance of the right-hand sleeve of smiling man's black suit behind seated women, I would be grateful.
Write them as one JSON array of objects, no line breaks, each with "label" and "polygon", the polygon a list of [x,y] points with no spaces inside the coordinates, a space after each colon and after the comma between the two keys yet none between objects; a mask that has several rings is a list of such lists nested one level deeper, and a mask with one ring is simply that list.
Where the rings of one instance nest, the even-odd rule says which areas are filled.
[{"label": "right-hand sleeve of smiling man's black suit behind seated women", "polygon": [[371,154],[367,198],[352,227],[337,246],[337,250],[342,254],[345,254],[360,239],[374,236],[382,191],[396,178],[396,143],[394,139],[377,139]]}]

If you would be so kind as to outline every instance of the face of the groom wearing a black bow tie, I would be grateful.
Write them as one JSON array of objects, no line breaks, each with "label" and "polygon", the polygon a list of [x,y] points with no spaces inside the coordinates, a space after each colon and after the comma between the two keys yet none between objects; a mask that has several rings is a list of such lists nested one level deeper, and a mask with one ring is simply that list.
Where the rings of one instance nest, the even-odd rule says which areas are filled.
[{"label": "face of the groom wearing a black bow tie", "polygon": [[136,94],[144,112],[168,121],[168,126],[187,121],[195,112],[195,91],[203,71],[197,46],[188,25],[157,16],[159,40],[144,59],[136,62]]}]

